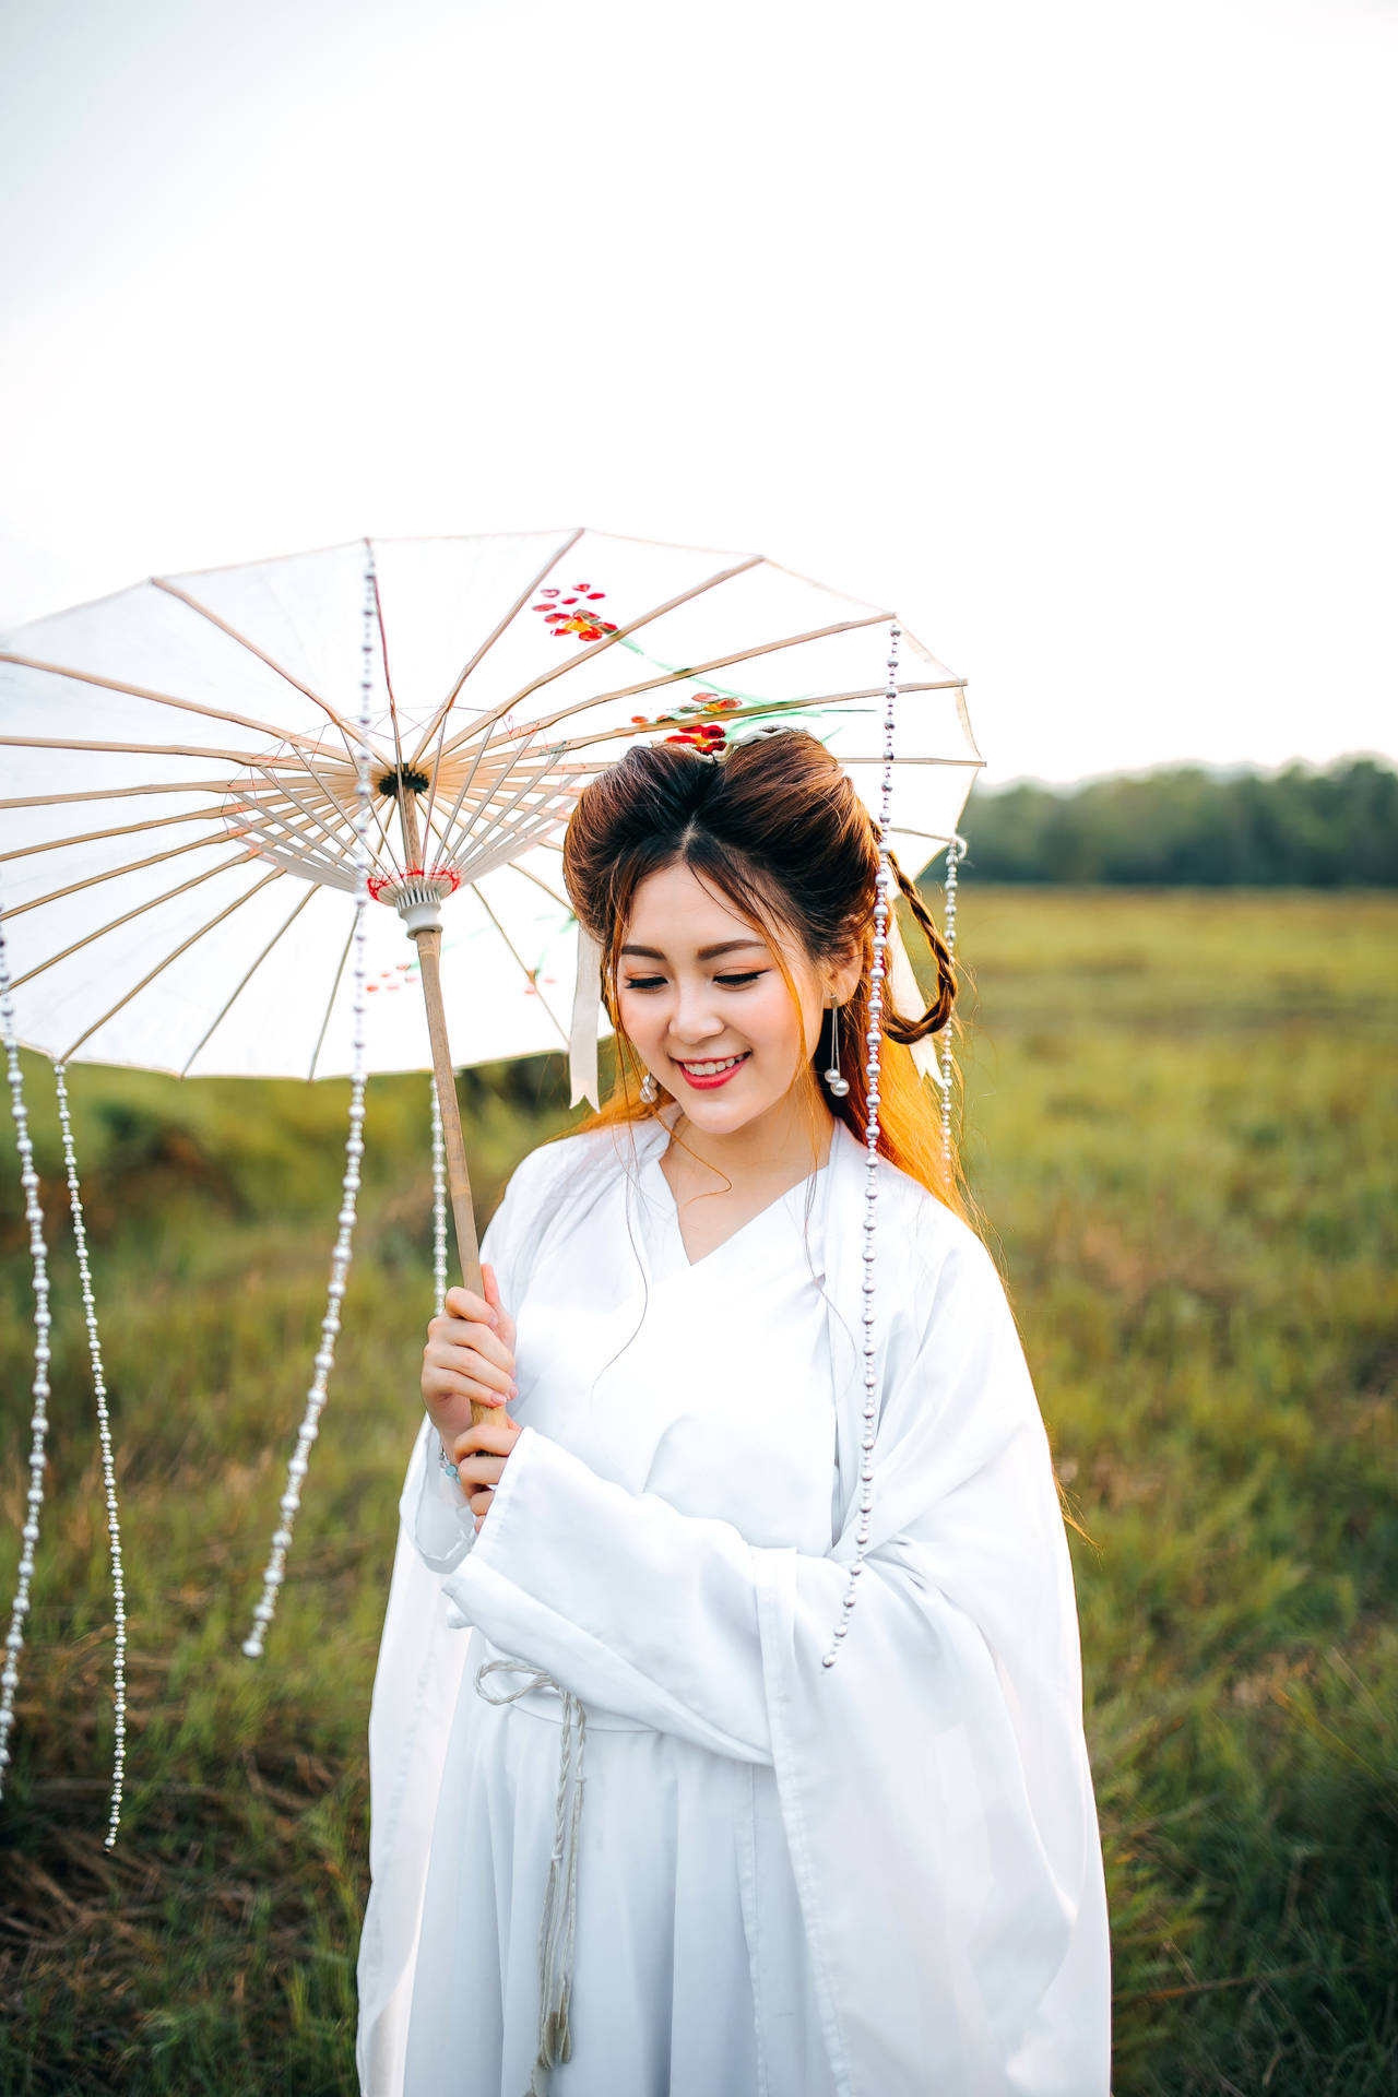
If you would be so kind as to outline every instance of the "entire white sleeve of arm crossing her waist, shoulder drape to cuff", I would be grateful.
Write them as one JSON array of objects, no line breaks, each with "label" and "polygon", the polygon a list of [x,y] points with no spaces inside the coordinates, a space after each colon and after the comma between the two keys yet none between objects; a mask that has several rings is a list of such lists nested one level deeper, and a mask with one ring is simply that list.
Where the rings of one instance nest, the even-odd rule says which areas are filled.
[{"label": "entire white sleeve of arm crossing her waist, shoulder drape to cuff", "polygon": [[449,1615],[744,1761],[782,1803],[859,2097],[1105,2097],[1109,1973],[1073,1575],[1004,1290],[962,1233],[889,1350],[874,1529],[755,1548],[524,1428]]}]

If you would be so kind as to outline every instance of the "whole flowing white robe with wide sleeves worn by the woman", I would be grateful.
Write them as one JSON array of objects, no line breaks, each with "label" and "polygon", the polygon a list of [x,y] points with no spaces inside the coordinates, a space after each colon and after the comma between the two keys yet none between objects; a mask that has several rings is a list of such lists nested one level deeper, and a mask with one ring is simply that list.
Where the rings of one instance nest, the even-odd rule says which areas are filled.
[{"label": "whole flowing white robe with wide sleeves worn by the woman", "polygon": [[501,1657],[587,1713],[555,2097],[1105,2097],[1073,1577],[993,1264],[880,1164],[874,1516],[826,1669],[864,1147],[836,1128],[690,1267],[662,1145],[545,1145],[486,1233],[524,1432],[480,1535],[425,1422],[413,1451],[369,1724],[365,2097],[528,2087],[562,1711],[486,1703]]}]

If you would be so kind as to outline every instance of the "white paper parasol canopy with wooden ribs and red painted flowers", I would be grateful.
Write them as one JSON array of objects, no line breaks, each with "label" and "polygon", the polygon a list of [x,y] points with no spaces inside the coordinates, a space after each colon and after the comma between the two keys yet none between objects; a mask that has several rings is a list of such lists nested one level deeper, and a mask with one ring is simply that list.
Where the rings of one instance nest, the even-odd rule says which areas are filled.
[{"label": "white paper parasol canopy with wooden ribs and red painted flowers", "polygon": [[[809,726],[870,807],[889,612],[759,556],[599,533],[375,541],[384,702],[375,885],[409,864],[394,774],[442,910],[457,1065],[566,1046],[572,795],[637,736]],[[180,1076],[344,1076],[354,914],[361,541],[153,579],[0,652],[0,864],[21,1040]],[[945,843],[979,753],[962,682],[903,637],[893,847]],[[692,709],[681,713],[679,709]],[[654,726],[652,726],[654,723]],[[369,1067],[425,1069],[415,969],[369,914]]]}]

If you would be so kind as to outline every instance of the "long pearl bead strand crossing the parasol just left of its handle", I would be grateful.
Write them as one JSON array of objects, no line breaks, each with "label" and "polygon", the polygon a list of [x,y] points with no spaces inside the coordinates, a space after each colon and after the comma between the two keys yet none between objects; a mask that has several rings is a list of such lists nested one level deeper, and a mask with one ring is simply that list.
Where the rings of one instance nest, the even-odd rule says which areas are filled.
[{"label": "long pearl bead strand crossing the parasol just left of its handle", "polygon": [[291,1550],[291,1525],[302,1504],[302,1480],[310,1470],[310,1445],[321,1432],[325,1411],[325,1386],[335,1365],[335,1336],[340,1332],[340,1304],[344,1300],[344,1277],[350,1269],[354,1244],[354,1210],[358,1204],[361,1172],[365,1155],[365,910],[369,906],[369,698],[373,692],[373,635],[377,621],[377,596],[373,587],[373,549],[367,549],[365,566],[365,640],[363,669],[358,686],[358,744],[354,751],[356,801],[354,801],[354,1040],[350,1076],[350,1134],[344,1145],[344,1183],[340,1193],[340,1237],[331,1258],[325,1317],[321,1319],[321,1346],[314,1359],[314,1380],[306,1392],[306,1413],[296,1436],[296,1453],[287,1464],[287,1489],[281,1495],[281,1525],[272,1533],[272,1552],[262,1575],[262,1600],[254,1608],[252,1634],[243,1640],[249,1661],[262,1659],[266,1627],[277,1615],[277,1592],[287,1573],[287,1552]]}]

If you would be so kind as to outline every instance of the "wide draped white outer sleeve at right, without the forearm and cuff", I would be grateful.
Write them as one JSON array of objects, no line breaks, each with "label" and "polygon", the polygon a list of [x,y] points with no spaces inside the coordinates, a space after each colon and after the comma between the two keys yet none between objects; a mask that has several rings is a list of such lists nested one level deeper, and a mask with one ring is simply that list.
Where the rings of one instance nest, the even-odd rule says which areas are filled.
[{"label": "wide draped white outer sleeve at right, without the forearm and cuff", "polygon": [[[1107,2097],[1111,1950],[1052,1455],[960,1233],[889,1363],[845,1650],[807,1560],[759,1573],[782,1814],[857,2097]],[[840,1539],[845,1550],[849,1537]]]}]

